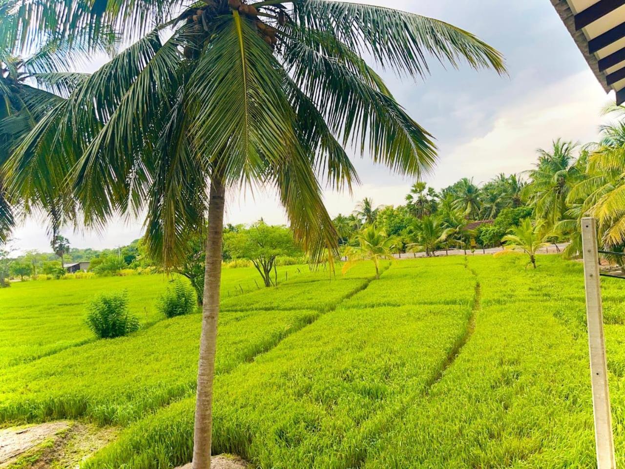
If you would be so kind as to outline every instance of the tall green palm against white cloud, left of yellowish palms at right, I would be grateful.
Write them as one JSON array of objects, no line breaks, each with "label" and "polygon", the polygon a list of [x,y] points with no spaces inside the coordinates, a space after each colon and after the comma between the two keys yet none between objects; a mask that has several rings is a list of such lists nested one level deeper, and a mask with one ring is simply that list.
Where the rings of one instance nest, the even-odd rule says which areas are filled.
[{"label": "tall green palm against white cloud, left of yellowish palms at right", "polygon": [[566,218],[567,196],[582,177],[574,151],[577,143],[557,139],[549,150],[539,148],[536,169],[529,171],[530,182],[523,194],[536,210],[536,217],[554,226]]}]

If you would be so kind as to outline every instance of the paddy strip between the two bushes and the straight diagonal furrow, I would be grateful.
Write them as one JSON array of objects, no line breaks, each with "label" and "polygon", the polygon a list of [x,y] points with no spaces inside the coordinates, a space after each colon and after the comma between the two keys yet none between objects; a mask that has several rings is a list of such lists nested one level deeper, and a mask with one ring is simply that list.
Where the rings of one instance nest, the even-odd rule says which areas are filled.
[{"label": "paddy strip between the two bushes and the straight diagonal furrow", "polygon": [[[226,288],[245,273],[248,281],[254,275],[252,270],[224,271]],[[360,268],[351,278],[329,282],[321,280],[326,278],[323,272],[306,269],[293,273],[284,286],[262,290],[254,286],[252,293],[226,298],[239,298],[248,306],[247,311],[237,308],[241,311],[221,315],[217,373],[227,373],[314,321],[328,309],[327,298],[336,304],[366,285],[367,280],[356,278],[363,273]],[[322,289],[325,301],[302,302]],[[255,300],[246,301],[248,296]],[[259,305],[261,311],[255,311]],[[200,315],[163,320],[124,338],[94,341],[8,368],[0,375],[0,421],[88,416],[103,424],[126,424],[189,395],[196,381],[200,325]]]}]

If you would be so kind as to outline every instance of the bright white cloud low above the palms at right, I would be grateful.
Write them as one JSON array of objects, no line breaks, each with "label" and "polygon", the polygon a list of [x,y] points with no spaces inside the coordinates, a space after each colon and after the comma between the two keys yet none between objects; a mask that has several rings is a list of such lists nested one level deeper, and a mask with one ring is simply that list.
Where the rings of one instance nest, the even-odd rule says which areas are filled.
[{"label": "bright white cloud low above the palms at right", "polygon": [[476,182],[494,174],[518,173],[536,161],[536,149],[562,138],[586,143],[597,138],[599,111],[608,98],[590,71],[528,94],[503,109],[491,129],[470,141],[448,148],[441,144],[441,160],[432,184],[446,186],[464,176]]}]

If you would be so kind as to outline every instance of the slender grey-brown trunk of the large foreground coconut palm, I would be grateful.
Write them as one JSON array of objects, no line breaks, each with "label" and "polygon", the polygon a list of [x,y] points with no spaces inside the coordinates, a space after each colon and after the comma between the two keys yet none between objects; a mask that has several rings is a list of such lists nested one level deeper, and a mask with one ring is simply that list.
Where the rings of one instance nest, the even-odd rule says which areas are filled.
[{"label": "slender grey-brown trunk of the large foreground coconut palm", "polygon": [[206,270],[202,305],[202,335],[197,367],[197,401],[193,434],[193,469],[211,468],[212,383],[215,376],[217,316],[221,286],[221,242],[224,234],[226,188],[217,179],[211,183],[206,238]]}]

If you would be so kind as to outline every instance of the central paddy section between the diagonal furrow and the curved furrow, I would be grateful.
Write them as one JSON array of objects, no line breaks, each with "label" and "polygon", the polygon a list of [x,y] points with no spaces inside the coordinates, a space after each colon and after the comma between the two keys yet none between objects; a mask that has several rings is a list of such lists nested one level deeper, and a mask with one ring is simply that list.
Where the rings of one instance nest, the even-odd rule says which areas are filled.
[{"label": "central paddy section between the diagonal furrow and the curved furrow", "polygon": [[[397,274],[404,280],[421,270],[417,264],[404,267]],[[446,275],[455,278],[459,296],[472,295],[474,277],[462,266],[454,271]],[[414,282],[402,306],[352,308],[367,288],[253,363],[219,376],[215,452],[238,453],[267,468],[361,464],[392,424],[389,409],[401,410],[408,394],[425,395],[466,333],[471,306],[411,304],[422,288],[431,284]],[[156,468],[188,461],[193,406],[189,398],[139,421],[86,467]]]}]

